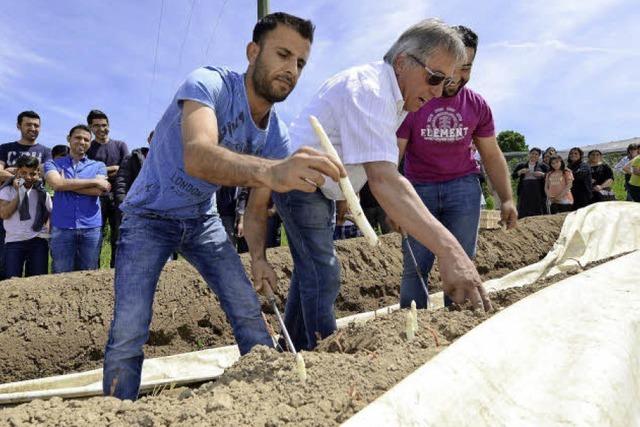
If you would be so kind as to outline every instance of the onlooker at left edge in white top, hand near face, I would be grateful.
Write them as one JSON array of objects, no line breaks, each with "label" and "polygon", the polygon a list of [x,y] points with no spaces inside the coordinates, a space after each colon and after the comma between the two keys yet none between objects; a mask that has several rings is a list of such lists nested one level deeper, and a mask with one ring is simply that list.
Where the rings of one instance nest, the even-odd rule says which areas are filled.
[{"label": "onlooker at left edge in white top, hand near face", "polygon": [[0,217],[6,230],[6,277],[47,274],[49,243],[47,220],[51,196],[40,179],[36,156],[21,155],[16,161],[16,176],[0,189]]}]

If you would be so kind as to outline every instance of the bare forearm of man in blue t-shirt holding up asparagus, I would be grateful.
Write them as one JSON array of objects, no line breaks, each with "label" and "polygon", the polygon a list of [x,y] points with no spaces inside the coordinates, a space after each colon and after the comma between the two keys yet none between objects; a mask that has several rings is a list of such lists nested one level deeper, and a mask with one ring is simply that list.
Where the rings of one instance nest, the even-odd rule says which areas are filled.
[{"label": "bare forearm of man in blue t-shirt holding up asparagus", "polygon": [[268,186],[274,160],[243,155],[214,144],[185,144],[184,163],[193,177],[229,187]]}]

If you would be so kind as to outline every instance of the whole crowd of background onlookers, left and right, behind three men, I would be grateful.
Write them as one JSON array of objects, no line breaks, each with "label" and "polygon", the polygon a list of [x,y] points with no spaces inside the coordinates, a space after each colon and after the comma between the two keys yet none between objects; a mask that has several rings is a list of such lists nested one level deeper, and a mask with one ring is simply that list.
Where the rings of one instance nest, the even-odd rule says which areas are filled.
[{"label": "whole crowd of background onlookers, left and right, behind three men", "polygon": [[[72,127],[67,145],[48,148],[37,142],[40,117],[18,115],[18,141],[0,145],[0,279],[96,269],[108,225],[111,266],[121,222],[119,206],[149,154],[148,147],[129,152],[127,144],[109,136],[109,119],[92,110],[87,124]],[[147,139],[152,144],[153,132]],[[640,201],[640,156],[631,144],[613,169],[599,150],[584,153],[574,147],[565,162],[552,147],[529,151],[529,159],[513,170],[518,181],[520,218],[576,210],[591,203],[615,200],[613,170],[625,174],[627,200]],[[49,190],[53,190],[53,197]],[[222,187],[217,209],[238,252],[247,251],[244,212],[248,188]],[[376,230],[389,231],[385,214],[371,191],[360,192],[363,210]],[[348,212],[337,209],[334,239],[360,235]],[[267,247],[281,244],[282,221],[269,209]],[[173,255],[177,259],[177,254]]]}]

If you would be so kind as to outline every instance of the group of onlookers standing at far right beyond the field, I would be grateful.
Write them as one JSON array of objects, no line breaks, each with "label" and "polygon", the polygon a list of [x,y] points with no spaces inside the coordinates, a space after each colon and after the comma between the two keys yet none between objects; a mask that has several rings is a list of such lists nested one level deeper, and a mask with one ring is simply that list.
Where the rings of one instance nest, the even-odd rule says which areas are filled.
[{"label": "group of onlookers standing at far right beyond the field", "polygon": [[565,162],[553,147],[544,152],[532,148],[529,159],[518,163],[511,175],[518,183],[518,217],[574,211],[592,203],[616,200],[614,170],[624,173],[626,199],[640,202],[638,149],[638,144],[630,144],[627,155],[611,168],[603,161],[600,150],[589,151],[585,161],[582,149],[574,147]]}]

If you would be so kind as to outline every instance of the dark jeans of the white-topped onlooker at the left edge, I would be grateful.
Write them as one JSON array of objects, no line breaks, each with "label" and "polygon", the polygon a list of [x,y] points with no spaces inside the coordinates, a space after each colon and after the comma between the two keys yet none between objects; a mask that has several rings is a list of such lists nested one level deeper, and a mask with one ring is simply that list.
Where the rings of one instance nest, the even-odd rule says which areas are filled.
[{"label": "dark jeans of the white-topped onlooker at the left edge", "polygon": [[4,245],[4,271],[9,277],[37,276],[49,271],[49,242],[40,237]]}]

